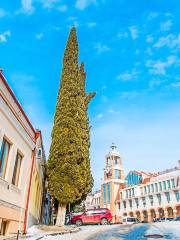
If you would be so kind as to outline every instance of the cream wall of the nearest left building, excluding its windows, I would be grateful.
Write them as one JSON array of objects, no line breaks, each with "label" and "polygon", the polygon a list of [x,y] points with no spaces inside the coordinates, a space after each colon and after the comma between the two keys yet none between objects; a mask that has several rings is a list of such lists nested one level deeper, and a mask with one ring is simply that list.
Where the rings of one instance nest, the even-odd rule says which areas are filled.
[{"label": "cream wall of the nearest left building, excluding its windows", "polygon": [[[1,79],[0,79],[1,80]],[[18,223],[23,221],[26,191],[29,183],[30,168],[32,162],[32,149],[35,144],[31,138],[32,130],[26,131],[16,114],[21,115],[10,97],[3,82],[0,81],[0,148],[5,137],[11,144],[5,177],[0,177],[0,219],[9,221],[7,234],[17,232]],[[4,91],[2,92],[2,90]],[[14,106],[12,106],[14,105]],[[13,108],[14,107],[14,108]],[[13,112],[15,111],[15,113]],[[16,112],[17,111],[17,112]],[[25,119],[23,119],[25,121]],[[18,186],[12,184],[16,154],[23,156]],[[22,224],[21,224],[22,228]]]}]

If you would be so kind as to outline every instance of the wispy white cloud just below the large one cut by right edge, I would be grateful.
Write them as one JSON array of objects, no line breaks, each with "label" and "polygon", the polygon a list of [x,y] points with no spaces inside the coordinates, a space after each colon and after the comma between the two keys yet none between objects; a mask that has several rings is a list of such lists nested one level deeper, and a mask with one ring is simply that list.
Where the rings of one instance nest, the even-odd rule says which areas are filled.
[{"label": "wispy white cloud just below the large one cut by right edge", "polygon": [[169,56],[166,61],[153,61],[153,60],[148,60],[146,62],[146,66],[149,68],[149,73],[154,74],[154,75],[165,75],[166,74],[166,69],[168,67],[171,67],[174,63],[176,63],[176,56],[172,55]]}]

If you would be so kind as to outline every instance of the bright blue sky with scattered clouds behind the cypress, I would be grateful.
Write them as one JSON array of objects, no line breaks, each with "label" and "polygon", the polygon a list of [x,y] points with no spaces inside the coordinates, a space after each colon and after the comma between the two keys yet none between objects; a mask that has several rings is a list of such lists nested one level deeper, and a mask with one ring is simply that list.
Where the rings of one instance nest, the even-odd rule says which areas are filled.
[{"label": "bright blue sky with scattered clouds behind the cypress", "polygon": [[95,188],[115,142],[126,170],[180,159],[180,4],[177,0],[1,0],[0,67],[46,154],[63,51],[77,27],[85,62]]}]

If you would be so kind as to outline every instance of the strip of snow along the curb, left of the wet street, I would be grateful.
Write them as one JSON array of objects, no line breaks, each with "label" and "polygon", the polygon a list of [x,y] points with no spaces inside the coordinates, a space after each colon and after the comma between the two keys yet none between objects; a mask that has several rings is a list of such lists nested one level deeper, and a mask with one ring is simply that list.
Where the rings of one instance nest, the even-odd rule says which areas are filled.
[{"label": "strip of snow along the curb, left of the wet street", "polygon": [[88,237],[90,237],[93,234],[102,232],[102,231],[108,231],[112,230],[113,228],[117,227],[117,225],[89,225],[89,226],[82,226],[81,230],[77,233],[68,233],[64,235],[58,235],[58,236],[46,236],[43,238],[50,239],[50,240],[83,240]]}]

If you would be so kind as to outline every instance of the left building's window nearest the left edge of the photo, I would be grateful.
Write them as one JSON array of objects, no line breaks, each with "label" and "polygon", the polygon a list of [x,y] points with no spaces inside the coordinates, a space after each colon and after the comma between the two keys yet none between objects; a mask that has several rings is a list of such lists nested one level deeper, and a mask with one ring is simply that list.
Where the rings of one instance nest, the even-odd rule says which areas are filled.
[{"label": "left building's window nearest the left edge of the photo", "polygon": [[0,177],[3,178],[5,178],[10,146],[10,143],[4,138],[0,150]]}]

